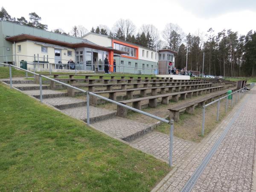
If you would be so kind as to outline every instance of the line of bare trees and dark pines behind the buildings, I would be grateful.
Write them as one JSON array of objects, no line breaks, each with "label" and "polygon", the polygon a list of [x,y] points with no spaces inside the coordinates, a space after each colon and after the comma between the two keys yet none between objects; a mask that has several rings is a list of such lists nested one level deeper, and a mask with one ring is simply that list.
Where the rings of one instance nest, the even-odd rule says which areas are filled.
[{"label": "line of bare trees and dark pines behind the buildings", "polygon": [[[0,19],[38,29],[47,29],[40,23],[41,17],[35,12],[29,13],[29,21],[25,17],[11,17],[2,7]],[[82,38],[88,30],[82,26],[73,26],[69,33],[63,29],[53,32]],[[175,66],[186,67],[193,71],[201,71],[204,60],[204,73],[215,76],[255,76],[256,75],[256,32],[250,30],[246,35],[239,35],[231,29],[215,32],[210,28],[206,33],[185,34],[177,24],[166,24],[162,32],[151,24],[143,24],[137,30],[131,20],[119,19],[109,29],[106,25],[92,27],[90,32],[109,35],[122,41],[128,41],[150,49],[172,49],[175,54]],[[161,35],[161,36],[160,36]],[[187,56],[187,59],[186,59]]]}]

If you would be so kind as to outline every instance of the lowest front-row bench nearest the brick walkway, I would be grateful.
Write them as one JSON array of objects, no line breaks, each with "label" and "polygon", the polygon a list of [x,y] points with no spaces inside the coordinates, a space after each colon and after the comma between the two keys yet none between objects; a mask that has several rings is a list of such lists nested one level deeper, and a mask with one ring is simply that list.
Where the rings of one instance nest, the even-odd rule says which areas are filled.
[{"label": "lowest front-row bench nearest the brick walkway", "polygon": [[[230,90],[235,90],[236,88],[231,88]],[[206,102],[212,102],[213,99],[216,99],[216,97],[224,96],[227,94],[227,91],[222,91],[219,93],[214,93],[209,96],[205,96],[201,99],[197,99],[192,102],[187,102],[181,105],[178,105],[176,107],[170,108],[169,110],[169,118],[174,119],[176,122],[180,119],[180,113],[187,112],[190,114],[194,114],[195,107],[196,106],[203,106]]]}]

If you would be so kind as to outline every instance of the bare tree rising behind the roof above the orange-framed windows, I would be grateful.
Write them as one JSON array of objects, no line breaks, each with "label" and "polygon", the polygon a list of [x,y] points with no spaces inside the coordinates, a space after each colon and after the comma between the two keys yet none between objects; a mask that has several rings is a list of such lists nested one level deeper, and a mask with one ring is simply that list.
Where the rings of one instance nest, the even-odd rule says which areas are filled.
[{"label": "bare tree rising behind the roof above the orange-framed windows", "polygon": [[115,25],[113,26],[113,34],[116,38],[122,39],[127,41],[129,37],[134,35],[134,32],[136,30],[136,26],[131,20],[124,20],[119,19],[116,21]]}]

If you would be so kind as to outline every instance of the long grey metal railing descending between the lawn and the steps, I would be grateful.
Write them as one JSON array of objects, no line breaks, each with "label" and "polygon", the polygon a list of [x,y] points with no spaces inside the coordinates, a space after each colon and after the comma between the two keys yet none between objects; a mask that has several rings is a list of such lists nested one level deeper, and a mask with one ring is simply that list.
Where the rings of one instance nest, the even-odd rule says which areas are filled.
[{"label": "long grey metal railing descending between the lawn and the steps", "polygon": [[75,90],[78,90],[78,91],[81,91],[82,93],[86,93],[87,94],[87,124],[90,125],[90,96],[89,95],[92,95],[92,96],[95,96],[97,98],[100,98],[100,99],[103,99],[107,102],[111,102],[113,104],[116,104],[116,105],[119,105],[119,106],[122,106],[124,108],[127,108],[131,111],[134,111],[134,112],[137,112],[137,113],[140,113],[140,114],[143,114],[143,115],[146,115],[146,116],[149,116],[151,118],[154,118],[154,119],[157,119],[161,122],[165,122],[165,123],[168,123],[170,124],[170,143],[169,143],[169,166],[172,166],[172,155],[173,155],[173,134],[174,134],[174,120],[166,120],[166,119],[163,119],[161,117],[158,117],[158,116],[155,116],[155,115],[152,115],[150,113],[147,113],[145,111],[141,111],[141,110],[138,110],[136,108],[132,108],[130,106],[127,106],[127,105],[124,105],[122,103],[119,103],[119,102],[116,102],[116,101],[113,101],[111,99],[108,99],[108,98],[105,98],[103,96],[99,96],[97,94],[94,94],[94,93],[91,93],[89,91],[86,91],[86,90],[82,90],[82,89],[79,89],[77,87],[73,87],[72,85],[70,84],[66,84],[66,83],[63,83],[61,81],[57,81],[55,79],[52,79],[52,78],[49,78],[47,76],[43,76],[43,75],[40,75],[38,73],[34,73],[34,72],[31,72],[29,70],[25,70],[25,69],[22,69],[20,67],[17,67],[17,66],[14,66],[14,65],[11,65],[11,64],[5,64],[5,63],[0,63],[0,64],[3,64],[3,65],[6,65],[6,66],[9,66],[9,75],[10,75],[10,87],[12,88],[12,67],[14,68],[17,68],[19,70],[23,70],[25,71],[26,73],[31,73],[35,76],[39,76],[39,84],[40,84],[40,102],[43,102],[43,89],[42,89],[42,77],[46,78],[46,79],[49,79],[50,81],[55,81],[56,83],[59,83],[59,84],[62,84],[66,87],[70,87],[72,89],[75,89]]}]

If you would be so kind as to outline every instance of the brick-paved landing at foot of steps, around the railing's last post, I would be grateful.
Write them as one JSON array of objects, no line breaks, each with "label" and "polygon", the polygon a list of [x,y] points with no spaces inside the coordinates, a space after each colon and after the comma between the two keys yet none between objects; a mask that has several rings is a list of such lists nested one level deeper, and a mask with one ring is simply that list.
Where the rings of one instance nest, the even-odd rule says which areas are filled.
[{"label": "brick-paved landing at foot of steps, around the railing's last post", "polygon": [[[131,146],[139,148],[146,153],[153,154],[155,157],[166,161],[169,159],[170,137],[156,131],[150,132],[130,142]],[[192,146],[195,144],[174,138],[173,142],[173,164],[177,164],[185,157]]]}]

